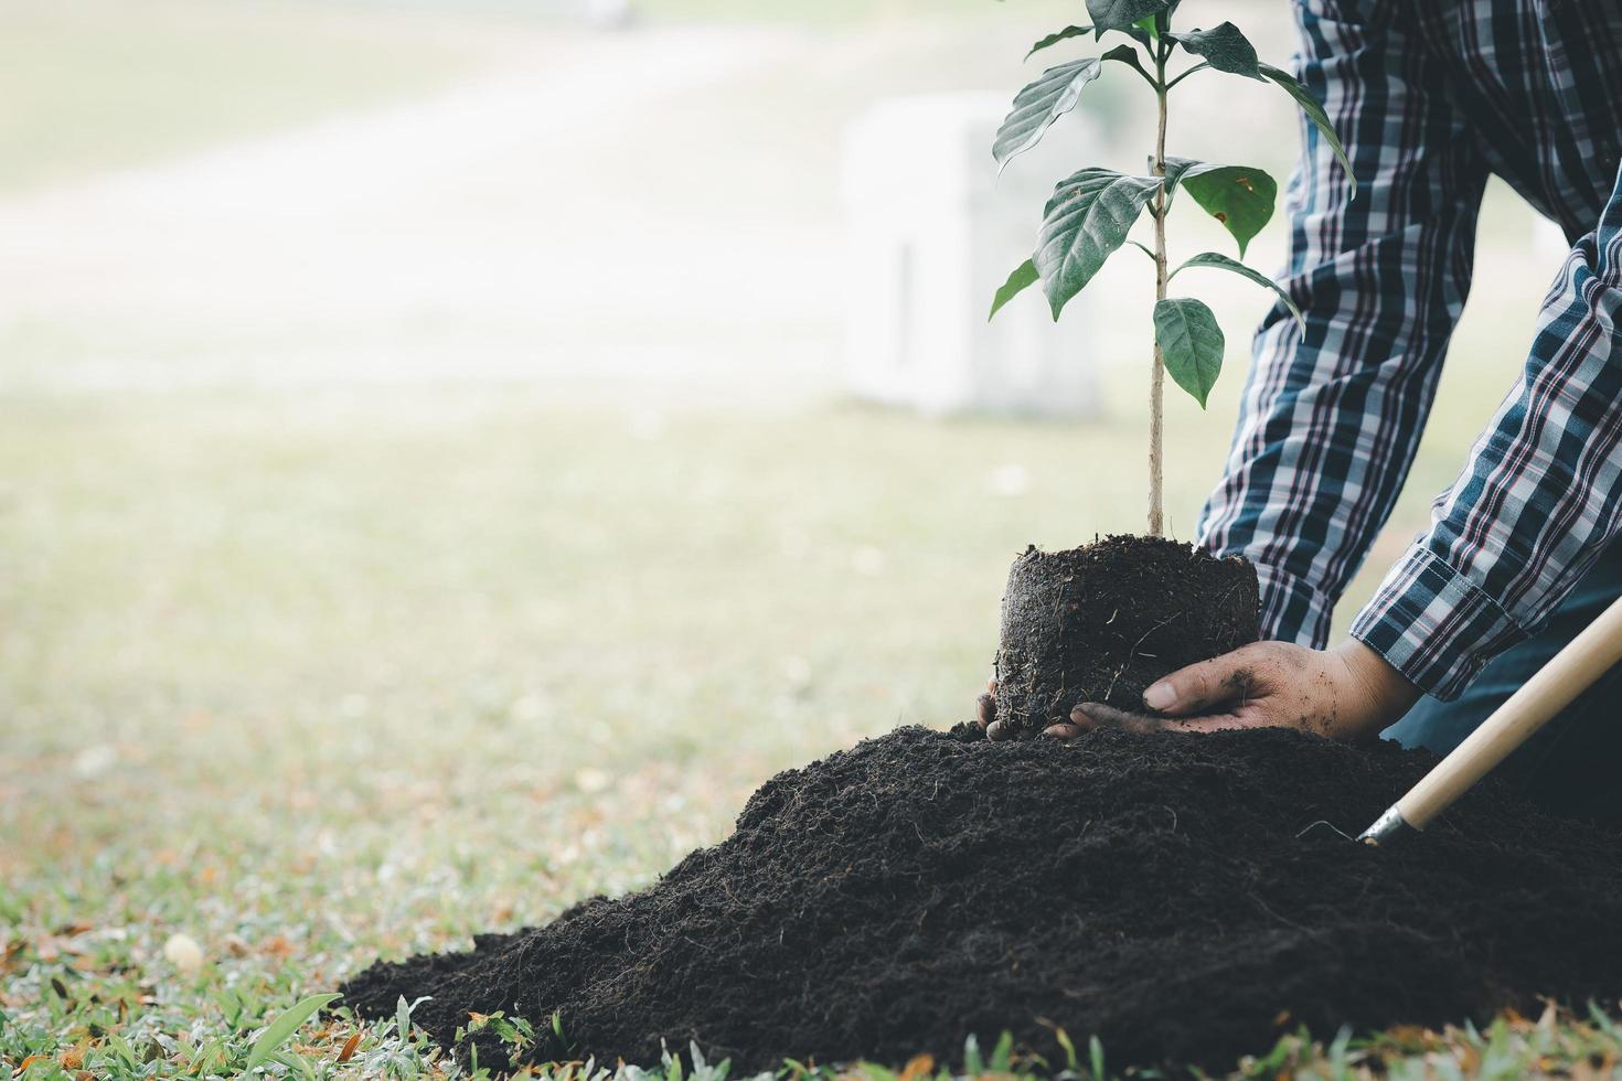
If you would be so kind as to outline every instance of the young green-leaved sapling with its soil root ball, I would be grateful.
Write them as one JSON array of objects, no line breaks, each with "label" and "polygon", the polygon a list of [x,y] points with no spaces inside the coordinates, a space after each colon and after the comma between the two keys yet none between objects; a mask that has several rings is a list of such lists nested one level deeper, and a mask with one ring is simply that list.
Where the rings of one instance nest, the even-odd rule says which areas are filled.
[{"label": "young green-leaved sapling with its soil root ball", "polygon": [[[1155,264],[1155,350],[1148,413],[1148,536],[1111,536],[1072,551],[1032,548],[1009,572],[996,656],[994,739],[1033,739],[1072,721],[1075,707],[1111,705],[1142,711],[1144,689],[1186,664],[1254,642],[1260,632],[1255,567],[1239,556],[1218,559],[1165,536],[1163,395],[1165,378],[1204,408],[1221,371],[1223,332],[1212,310],[1169,287],[1191,269],[1226,271],[1273,290],[1296,319],[1289,295],[1247,267],[1244,251],[1273,216],[1277,182],[1254,165],[1225,165],[1166,152],[1166,118],[1184,79],[1233,75],[1283,88],[1311,120],[1309,149],[1346,156],[1314,97],[1288,73],[1262,63],[1233,23],[1176,29],[1178,0],[1087,0],[1092,21],[1036,42],[1032,53],[1092,36],[1122,41],[1098,57],[1048,68],[1014,99],[993,154],[1001,167],[1041,141],[1075,109],[1088,83],[1132,73],[1155,96],[1155,136],[1144,175],[1088,165],[1048,199],[1036,253],[998,290],[991,314],[1022,290],[1041,284],[1053,318],[1098,274],[1118,248],[1131,245]],[[1319,143],[1322,139],[1322,143]],[[1348,185],[1350,169],[1346,172]],[[1181,193],[1221,222],[1239,258],[1204,251],[1179,264],[1168,258],[1166,232]],[[1134,227],[1148,219],[1148,243]],[[1082,710],[1085,715],[1087,711]]]}]

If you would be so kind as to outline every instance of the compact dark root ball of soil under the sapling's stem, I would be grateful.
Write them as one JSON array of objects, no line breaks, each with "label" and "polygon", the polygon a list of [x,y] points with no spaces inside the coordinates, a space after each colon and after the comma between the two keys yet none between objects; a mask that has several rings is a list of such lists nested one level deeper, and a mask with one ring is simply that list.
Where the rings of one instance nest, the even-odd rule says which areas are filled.
[{"label": "compact dark root ball of soil under the sapling's stem", "polygon": [[1144,689],[1257,637],[1255,569],[1158,536],[1030,548],[1009,570],[998,720],[1017,739],[1082,702],[1144,708]]}]

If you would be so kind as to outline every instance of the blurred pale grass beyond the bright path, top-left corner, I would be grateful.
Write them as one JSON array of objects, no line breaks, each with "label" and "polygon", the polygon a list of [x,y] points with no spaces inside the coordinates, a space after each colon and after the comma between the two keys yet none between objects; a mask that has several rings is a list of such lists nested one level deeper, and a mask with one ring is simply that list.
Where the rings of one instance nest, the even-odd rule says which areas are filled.
[{"label": "blurred pale grass beyond the bright path, top-left corner", "polygon": [[8,0],[0,194],[430,92],[511,47],[310,0]]}]

